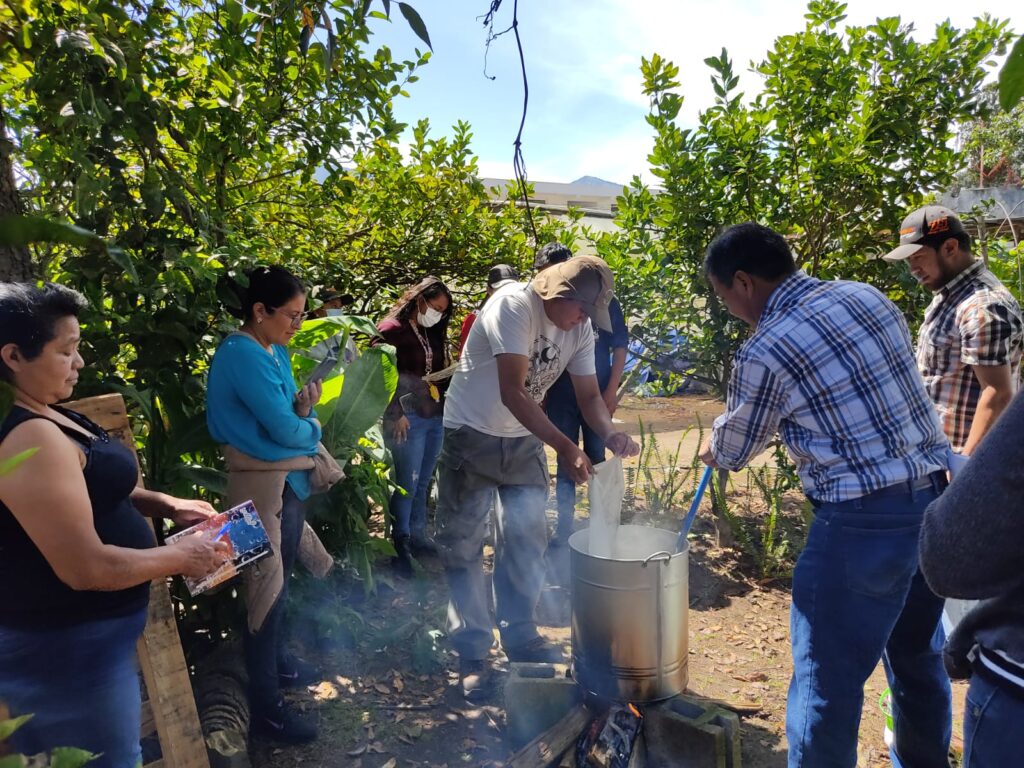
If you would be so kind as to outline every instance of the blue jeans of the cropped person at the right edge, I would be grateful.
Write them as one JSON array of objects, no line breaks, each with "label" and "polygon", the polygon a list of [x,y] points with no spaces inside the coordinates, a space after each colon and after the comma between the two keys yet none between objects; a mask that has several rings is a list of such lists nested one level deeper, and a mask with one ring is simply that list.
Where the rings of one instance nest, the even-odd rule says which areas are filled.
[{"label": "blue jeans of the cropped person at the right edge", "polygon": [[1020,765],[1024,754],[1024,698],[994,685],[978,673],[971,676],[964,708],[964,760],[961,768]]}]

